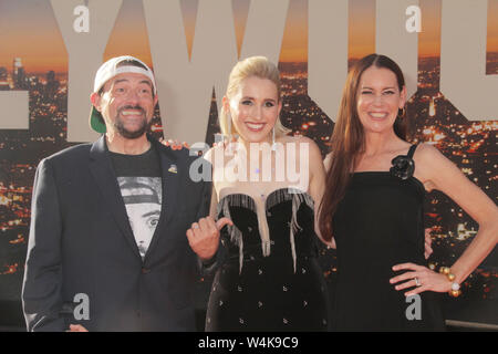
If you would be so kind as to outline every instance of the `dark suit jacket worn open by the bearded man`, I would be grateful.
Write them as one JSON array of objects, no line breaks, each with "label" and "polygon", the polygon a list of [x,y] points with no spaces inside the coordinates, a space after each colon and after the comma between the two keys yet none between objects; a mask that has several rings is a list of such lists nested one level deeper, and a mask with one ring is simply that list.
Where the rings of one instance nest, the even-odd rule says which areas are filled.
[{"label": "dark suit jacket worn open by the bearded man", "polygon": [[[194,331],[198,260],[186,230],[208,215],[210,184],[194,183],[188,150],[149,137],[160,156],[163,205],[142,260],[105,137],[43,159],[33,187],[22,291],[29,331]],[[73,309],[87,296],[90,319]],[[64,315],[65,312],[65,315]]]}]

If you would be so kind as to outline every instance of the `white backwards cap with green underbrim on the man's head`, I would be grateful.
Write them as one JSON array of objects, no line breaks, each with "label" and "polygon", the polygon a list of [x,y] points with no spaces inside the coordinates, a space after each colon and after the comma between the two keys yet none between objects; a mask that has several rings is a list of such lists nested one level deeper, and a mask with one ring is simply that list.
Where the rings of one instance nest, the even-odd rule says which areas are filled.
[{"label": "white backwards cap with green underbrim on the man's head", "polygon": [[[143,67],[136,66],[133,63],[126,65],[126,63],[123,62],[138,62]],[[135,73],[147,76],[153,84],[154,95],[157,94],[156,81],[154,80],[154,73],[151,67],[148,67],[143,61],[131,55],[112,58],[103,63],[95,74],[93,92],[98,92],[108,80],[123,73]],[[97,133],[106,132],[104,118],[93,105],[90,112],[90,126]]]}]

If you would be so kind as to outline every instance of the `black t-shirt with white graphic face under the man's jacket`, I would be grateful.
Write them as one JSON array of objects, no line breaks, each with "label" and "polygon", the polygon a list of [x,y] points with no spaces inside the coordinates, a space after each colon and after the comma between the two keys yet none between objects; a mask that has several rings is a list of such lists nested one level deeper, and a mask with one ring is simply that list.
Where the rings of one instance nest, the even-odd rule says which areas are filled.
[{"label": "black t-shirt with white graphic face under the man's jacket", "polygon": [[129,225],[144,258],[160,216],[159,157],[153,146],[142,155],[110,154]]}]

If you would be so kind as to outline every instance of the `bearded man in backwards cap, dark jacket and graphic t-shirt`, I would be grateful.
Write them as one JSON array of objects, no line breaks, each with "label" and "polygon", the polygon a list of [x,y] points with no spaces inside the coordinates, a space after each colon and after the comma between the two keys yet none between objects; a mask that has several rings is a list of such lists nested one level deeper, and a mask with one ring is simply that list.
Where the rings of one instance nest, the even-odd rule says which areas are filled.
[{"label": "bearded man in backwards cap, dark jacket and graphic t-shirt", "polygon": [[103,135],[44,158],[33,187],[22,290],[29,331],[194,331],[201,263],[186,230],[208,214],[193,157],[147,134],[151,69],[113,58],[95,75]]}]

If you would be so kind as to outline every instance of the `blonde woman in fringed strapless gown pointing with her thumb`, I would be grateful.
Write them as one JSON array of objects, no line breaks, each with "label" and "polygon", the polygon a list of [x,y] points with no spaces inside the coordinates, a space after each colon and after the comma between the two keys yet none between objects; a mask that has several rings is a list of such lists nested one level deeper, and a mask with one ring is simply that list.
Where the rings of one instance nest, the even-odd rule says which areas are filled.
[{"label": "blonde woman in fringed strapless gown pointing with her thumb", "polygon": [[234,67],[219,123],[236,143],[206,155],[214,177],[210,217],[187,231],[199,258],[218,266],[207,331],[328,327],[314,230],[322,158],[311,139],[286,135],[281,107],[273,63],[253,56]]}]

